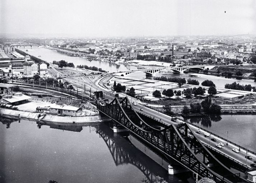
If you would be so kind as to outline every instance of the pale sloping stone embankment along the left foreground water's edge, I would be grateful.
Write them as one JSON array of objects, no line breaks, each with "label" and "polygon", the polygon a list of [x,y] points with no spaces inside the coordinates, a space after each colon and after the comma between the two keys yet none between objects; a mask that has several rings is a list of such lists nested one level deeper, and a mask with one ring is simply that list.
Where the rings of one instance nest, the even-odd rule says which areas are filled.
[{"label": "pale sloping stone embankment along the left foreground water's edge", "polygon": [[[38,115],[42,113],[33,113],[33,112],[25,112],[20,110],[12,110],[12,109],[4,109],[0,108],[1,114],[3,114],[3,117],[14,117],[14,118],[26,118],[26,119],[34,119],[38,120]],[[59,116],[59,115],[53,115],[53,114],[46,114],[45,116],[42,116],[39,118],[40,120],[49,121],[49,122],[57,122],[57,123],[97,123],[102,122],[102,119],[99,117],[99,115],[96,116]]]}]

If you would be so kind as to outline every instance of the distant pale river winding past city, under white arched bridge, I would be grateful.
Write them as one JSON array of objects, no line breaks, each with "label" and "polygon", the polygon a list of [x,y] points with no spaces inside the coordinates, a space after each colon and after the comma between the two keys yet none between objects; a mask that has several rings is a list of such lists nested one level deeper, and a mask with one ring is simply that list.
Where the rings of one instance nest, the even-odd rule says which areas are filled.
[{"label": "distant pale river winding past city, under white arched bridge", "polygon": [[[111,62],[107,62],[107,61],[100,61],[100,60],[92,60],[92,61],[88,61],[86,60],[86,58],[82,58],[82,57],[75,57],[75,56],[68,56],[65,54],[61,54],[57,51],[51,50],[51,49],[47,49],[47,48],[37,48],[37,47],[18,47],[18,49],[25,51],[26,53],[36,56],[38,57],[40,55],[40,59],[48,61],[50,63],[52,63],[53,60],[56,61],[60,61],[60,60],[65,60],[68,62],[73,62],[74,65],[88,65],[88,66],[96,66],[98,68],[102,68],[103,70],[107,70],[109,72],[117,72],[117,71],[125,71],[125,70],[136,70],[138,69],[136,66],[132,66],[132,65],[117,65],[115,63],[111,63]],[[28,50],[28,51],[26,51]],[[205,75],[205,74],[192,74],[192,75],[196,75],[196,76],[191,76],[189,74],[173,74],[172,71],[170,72],[159,72],[156,74],[157,76],[166,76],[168,77],[182,77],[187,79],[196,79],[199,81],[199,83],[201,84],[204,80],[209,79],[212,80],[214,82],[214,84],[216,85],[216,87],[219,88],[224,88],[225,84],[227,83],[233,83],[233,82],[237,82],[239,84],[251,84],[252,86],[256,86],[256,82],[254,82],[254,80],[252,79],[234,79],[234,78],[225,78],[225,77],[221,77],[221,76],[213,76],[213,75]],[[141,72],[137,72],[134,74],[130,74],[130,76],[136,76],[139,78],[146,78],[145,73],[141,73]],[[147,78],[152,78],[152,77],[147,77]]]}]

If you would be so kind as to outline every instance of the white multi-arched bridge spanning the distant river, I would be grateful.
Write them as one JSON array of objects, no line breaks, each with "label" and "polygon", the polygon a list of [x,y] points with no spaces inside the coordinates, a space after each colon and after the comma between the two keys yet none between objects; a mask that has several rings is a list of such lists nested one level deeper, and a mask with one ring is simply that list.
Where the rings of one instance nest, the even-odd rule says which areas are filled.
[{"label": "white multi-arched bridge spanning the distant river", "polygon": [[190,66],[180,66],[180,67],[161,67],[161,68],[152,68],[152,69],[138,69],[138,70],[129,70],[129,71],[124,71],[120,73],[116,73],[117,75],[120,76],[127,76],[131,73],[135,72],[144,72],[148,76],[155,76],[155,73],[158,73],[163,70],[172,70],[176,74],[184,74],[185,70],[188,69],[200,69],[200,70],[209,70],[214,68],[215,65],[190,65]]}]

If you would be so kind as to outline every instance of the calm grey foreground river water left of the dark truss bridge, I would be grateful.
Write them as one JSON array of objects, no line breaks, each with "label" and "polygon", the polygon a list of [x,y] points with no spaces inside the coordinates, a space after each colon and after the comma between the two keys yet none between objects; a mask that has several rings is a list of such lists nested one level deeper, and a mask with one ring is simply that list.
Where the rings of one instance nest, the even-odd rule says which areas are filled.
[{"label": "calm grey foreground river water left of the dark truss bridge", "polygon": [[193,182],[190,173],[168,175],[167,162],[162,165],[161,158],[132,135],[113,135],[104,123],[39,129],[28,120],[1,121],[1,183],[141,183],[156,175],[172,183]]}]

